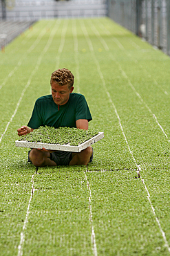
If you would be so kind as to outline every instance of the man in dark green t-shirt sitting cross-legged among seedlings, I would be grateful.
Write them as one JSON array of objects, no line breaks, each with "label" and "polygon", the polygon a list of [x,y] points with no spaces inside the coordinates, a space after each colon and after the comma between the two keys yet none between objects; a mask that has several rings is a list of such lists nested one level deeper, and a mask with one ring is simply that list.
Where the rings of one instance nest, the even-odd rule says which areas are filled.
[{"label": "man in dark green t-shirt sitting cross-legged among seedlings", "polygon": [[[92,120],[92,116],[85,97],[79,93],[72,93],[74,75],[67,68],[58,69],[52,73],[50,84],[52,95],[45,95],[36,100],[28,126],[22,126],[17,130],[19,136],[45,125],[55,128],[88,129],[88,122]],[[36,167],[87,165],[92,161],[92,156],[92,147],[87,147],[80,153],[52,151],[43,148],[32,149],[29,160]]]}]

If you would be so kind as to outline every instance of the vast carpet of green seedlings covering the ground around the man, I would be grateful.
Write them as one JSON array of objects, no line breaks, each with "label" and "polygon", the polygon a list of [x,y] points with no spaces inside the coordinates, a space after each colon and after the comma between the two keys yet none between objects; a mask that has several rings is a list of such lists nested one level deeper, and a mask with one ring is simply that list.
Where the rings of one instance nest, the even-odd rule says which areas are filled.
[{"label": "vast carpet of green seedlings covering the ground around the man", "polygon": [[[1,255],[169,255],[169,57],[110,19],[56,19],[0,65]],[[35,174],[17,129],[63,67],[105,138],[87,167]]]}]

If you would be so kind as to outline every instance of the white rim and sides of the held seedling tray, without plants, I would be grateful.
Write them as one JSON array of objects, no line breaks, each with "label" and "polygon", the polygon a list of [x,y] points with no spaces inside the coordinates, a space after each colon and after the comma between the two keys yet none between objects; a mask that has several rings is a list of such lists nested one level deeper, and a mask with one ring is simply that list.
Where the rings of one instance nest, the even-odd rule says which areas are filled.
[{"label": "white rim and sides of the held seedling tray, without plants", "polygon": [[68,152],[81,152],[83,149],[86,149],[90,145],[96,143],[98,140],[101,140],[104,138],[104,133],[99,132],[96,136],[90,138],[89,140],[86,140],[84,143],[78,145],[78,146],[70,146],[69,144],[60,145],[60,144],[48,144],[48,143],[30,143],[27,140],[15,141],[16,147],[30,147],[32,149],[42,149],[43,147],[45,149],[50,150],[61,150],[61,151],[68,151]]}]

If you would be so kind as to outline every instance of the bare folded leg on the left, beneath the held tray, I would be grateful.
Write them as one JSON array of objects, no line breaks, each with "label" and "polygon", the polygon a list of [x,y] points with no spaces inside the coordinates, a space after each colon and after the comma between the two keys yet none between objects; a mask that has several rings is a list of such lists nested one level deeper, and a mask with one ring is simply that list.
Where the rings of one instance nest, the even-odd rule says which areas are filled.
[{"label": "bare folded leg on the left, beneath the held tray", "polygon": [[29,158],[36,167],[56,166],[56,163],[50,159],[50,153],[39,149],[32,149]]}]

